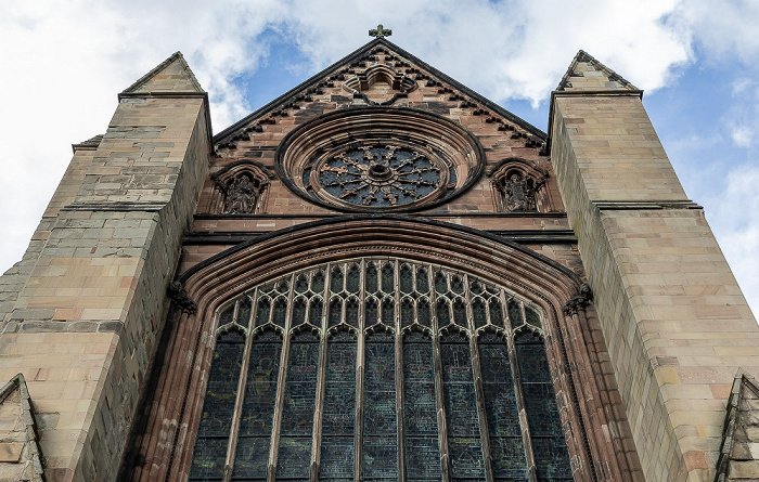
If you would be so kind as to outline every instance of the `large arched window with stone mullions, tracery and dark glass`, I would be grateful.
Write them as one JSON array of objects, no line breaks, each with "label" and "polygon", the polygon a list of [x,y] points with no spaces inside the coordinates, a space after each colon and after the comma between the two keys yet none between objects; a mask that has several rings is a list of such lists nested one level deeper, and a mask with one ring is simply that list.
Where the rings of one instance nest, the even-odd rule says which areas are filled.
[{"label": "large arched window with stone mullions, tracery and dark glass", "polygon": [[402,259],[257,286],[218,310],[189,480],[571,481],[542,318]]}]

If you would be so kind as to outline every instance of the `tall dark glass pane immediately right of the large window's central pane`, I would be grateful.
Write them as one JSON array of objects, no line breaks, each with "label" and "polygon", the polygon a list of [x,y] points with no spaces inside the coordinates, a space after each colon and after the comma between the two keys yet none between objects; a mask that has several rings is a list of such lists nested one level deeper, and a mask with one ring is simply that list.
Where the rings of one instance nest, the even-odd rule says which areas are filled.
[{"label": "tall dark glass pane immediately right of the large window's central pane", "polygon": [[440,473],[435,364],[428,336],[410,333],[403,339],[403,413],[408,480]]}]

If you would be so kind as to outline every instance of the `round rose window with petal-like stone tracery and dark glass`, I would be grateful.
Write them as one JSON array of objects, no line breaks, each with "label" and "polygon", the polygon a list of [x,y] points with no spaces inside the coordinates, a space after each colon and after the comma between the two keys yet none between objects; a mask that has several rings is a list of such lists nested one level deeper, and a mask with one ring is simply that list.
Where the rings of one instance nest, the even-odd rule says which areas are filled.
[{"label": "round rose window with petal-like stone tracery and dark glass", "polygon": [[310,181],[326,193],[366,207],[416,203],[455,182],[455,171],[438,156],[388,143],[342,148],[321,159],[316,172]]}]

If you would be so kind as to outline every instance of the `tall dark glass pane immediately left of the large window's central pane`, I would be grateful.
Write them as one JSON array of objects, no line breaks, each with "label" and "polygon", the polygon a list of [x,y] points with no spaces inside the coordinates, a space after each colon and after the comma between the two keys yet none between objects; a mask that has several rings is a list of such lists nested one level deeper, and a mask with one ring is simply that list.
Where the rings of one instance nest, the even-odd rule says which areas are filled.
[{"label": "tall dark glass pane immediately left of the large window's central pane", "polygon": [[321,480],[352,479],[356,426],[356,337],[334,335],[326,351]]}]

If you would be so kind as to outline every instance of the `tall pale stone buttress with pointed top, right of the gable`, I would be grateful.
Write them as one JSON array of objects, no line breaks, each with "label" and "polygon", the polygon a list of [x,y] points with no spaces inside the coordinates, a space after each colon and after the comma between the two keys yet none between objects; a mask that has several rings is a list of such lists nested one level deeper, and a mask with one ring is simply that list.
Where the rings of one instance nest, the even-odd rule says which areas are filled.
[{"label": "tall pale stone buttress with pointed top, right of the gable", "polygon": [[711,481],[759,328],[642,92],[584,52],[552,95],[551,158],[649,481]]}]

